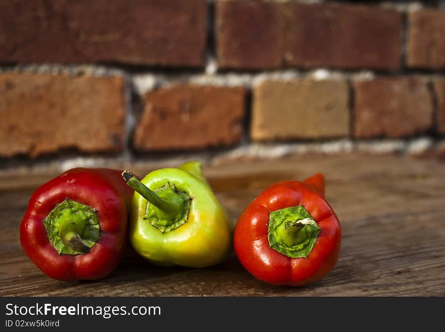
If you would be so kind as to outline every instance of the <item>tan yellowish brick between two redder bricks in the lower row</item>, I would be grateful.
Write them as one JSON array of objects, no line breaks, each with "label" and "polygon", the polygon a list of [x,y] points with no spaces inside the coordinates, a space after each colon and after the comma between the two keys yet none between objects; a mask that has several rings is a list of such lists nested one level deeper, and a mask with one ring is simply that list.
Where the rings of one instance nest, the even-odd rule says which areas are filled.
[{"label": "tan yellowish brick between two redder bricks in the lower row", "polygon": [[348,135],[348,87],[344,81],[267,80],[253,91],[255,140]]}]

